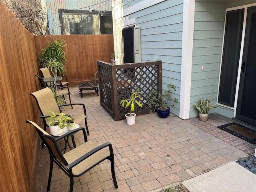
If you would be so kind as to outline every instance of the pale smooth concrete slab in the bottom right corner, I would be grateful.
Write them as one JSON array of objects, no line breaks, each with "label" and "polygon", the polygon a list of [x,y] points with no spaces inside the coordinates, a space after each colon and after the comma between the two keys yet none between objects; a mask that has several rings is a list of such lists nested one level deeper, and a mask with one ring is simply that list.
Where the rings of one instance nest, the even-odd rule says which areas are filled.
[{"label": "pale smooth concrete slab in the bottom right corner", "polygon": [[190,192],[253,192],[256,191],[256,174],[230,162],[182,184]]}]

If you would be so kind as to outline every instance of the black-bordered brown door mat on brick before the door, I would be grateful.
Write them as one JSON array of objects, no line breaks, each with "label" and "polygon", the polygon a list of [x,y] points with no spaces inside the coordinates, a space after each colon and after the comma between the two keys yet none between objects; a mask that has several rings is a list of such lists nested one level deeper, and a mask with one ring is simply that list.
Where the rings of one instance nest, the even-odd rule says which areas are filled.
[{"label": "black-bordered brown door mat on brick before the door", "polygon": [[250,128],[247,128],[237,123],[229,123],[226,125],[218,126],[218,128],[251,144],[256,144],[256,131]]}]

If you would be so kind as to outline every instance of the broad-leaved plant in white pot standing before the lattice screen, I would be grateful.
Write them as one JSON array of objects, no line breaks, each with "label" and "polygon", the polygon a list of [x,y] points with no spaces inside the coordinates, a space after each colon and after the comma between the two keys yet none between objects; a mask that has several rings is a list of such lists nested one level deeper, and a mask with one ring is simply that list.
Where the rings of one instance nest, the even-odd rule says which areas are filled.
[{"label": "broad-leaved plant in white pot standing before the lattice screen", "polygon": [[120,105],[122,105],[122,107],[124,107],[124,106],[125,106],[125,108],[130,107],[130,113],[125,114],[128,125],[135,124],[136,114],[132,113],[135,110],[135,104],[142,107],[142,105],[138,101],[141,98],[140,93],[141,92],[139,92],[139,89],[137,89],[136,91],[132,91],[130,98],[123,99],[120,101]]}]

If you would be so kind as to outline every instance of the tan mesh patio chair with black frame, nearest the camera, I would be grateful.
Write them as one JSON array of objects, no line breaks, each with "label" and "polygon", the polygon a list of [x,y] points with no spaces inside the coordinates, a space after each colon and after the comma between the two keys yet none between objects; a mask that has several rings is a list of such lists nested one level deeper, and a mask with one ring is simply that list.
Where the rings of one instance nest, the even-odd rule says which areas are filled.
[{"label": "tan mesh patio chair with black frame, nearest the camera", "polygon": [[40,128],[40,126],[32,121],[27,120],[26,123],[34,125],[40,138],[44,141],[49,150],[50,172],[48,177],[47,191],[50,191],[54,162],[70,178],[69,191],[72,192],[74,186],[74,177],[83,175],[106,159],[110,160],[113,183],[115,188],[118,188],[114,170],[114,152],[111,143],[107,142],[98,146],[92,141],[85,141],[84,144],[81,144],[73,150],[62,154],[58,148],[56,140],[50,134],[45,132],[42,128]]}]

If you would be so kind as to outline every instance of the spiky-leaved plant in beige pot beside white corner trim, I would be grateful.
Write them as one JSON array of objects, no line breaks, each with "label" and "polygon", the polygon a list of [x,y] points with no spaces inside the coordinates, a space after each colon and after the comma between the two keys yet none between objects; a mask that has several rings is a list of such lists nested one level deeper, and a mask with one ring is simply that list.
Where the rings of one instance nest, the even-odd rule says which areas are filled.
[{"label": "spiky-leaved plant in beige pot beside white corner trim", "polygon": [[201,121],[208,121],[208,111],[210,111],[212,108],[219,108],[218,106],[216,106],[217,104],[212,105],[211,97],[209,97],[206,100],[204,100],[204,98],[201,98],[198,101],[198,104],[198,106],[194,104],[194,108],[196,108],[199,111],[199,119]]}]

